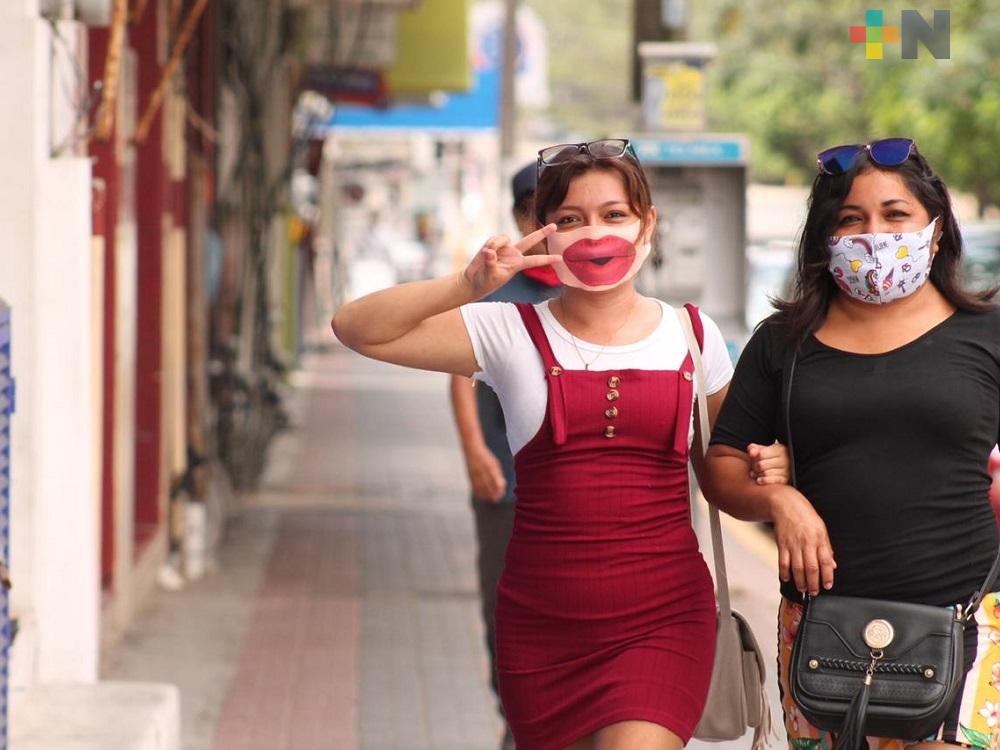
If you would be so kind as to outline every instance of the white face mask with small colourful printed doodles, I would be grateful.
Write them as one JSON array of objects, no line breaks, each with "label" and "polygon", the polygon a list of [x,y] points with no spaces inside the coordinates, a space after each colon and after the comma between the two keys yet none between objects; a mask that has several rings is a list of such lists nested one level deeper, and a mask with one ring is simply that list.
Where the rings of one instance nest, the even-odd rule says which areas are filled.
[{"label": "white face mask with small colourful printed doodles", "polygon": [[913,294],[930,273],[937,219],[919,232],[831,237],[830,273],[852,298],[885,304]]}]

